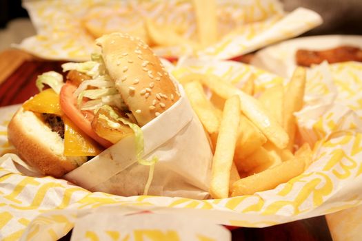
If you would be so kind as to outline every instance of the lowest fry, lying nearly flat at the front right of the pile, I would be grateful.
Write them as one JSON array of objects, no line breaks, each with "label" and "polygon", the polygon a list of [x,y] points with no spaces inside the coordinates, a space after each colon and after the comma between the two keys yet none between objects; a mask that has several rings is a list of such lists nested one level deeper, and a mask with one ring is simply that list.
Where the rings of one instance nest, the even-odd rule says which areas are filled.
[{"label": "lowest fry, lying nearly flat at the front right of the pile", "polygon": [[258,174],[241,178],[232,185],[231,196],[252,195],[257,191],[273,189],[281,183],[303,173],[305,157],[287,160],[275,167],[261,171]]}]

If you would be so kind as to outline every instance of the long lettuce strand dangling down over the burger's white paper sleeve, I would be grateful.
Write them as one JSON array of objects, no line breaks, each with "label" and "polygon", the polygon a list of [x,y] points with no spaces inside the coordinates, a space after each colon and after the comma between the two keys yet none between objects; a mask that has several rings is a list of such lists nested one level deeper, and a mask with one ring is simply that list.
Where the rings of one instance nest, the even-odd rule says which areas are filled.
[{"label": "long lettuce strand dangling down over the burger's white paper sleeve", "polygon": [[117,112],[115,112],[114,109],[112,109],[112,107],[110,107],[109,105],[104,105],[102,109],[107,110],[108,113],[110,114],[110,117],[114,118],[114,120],[121,121],[121,123],[123,123],[124,125],[128,125],[134,132],[137,163],[145,166],[150,166],[150,171],[148,173],[148,180],[146,182],[145,189],[143,190],[143,195],[147,195],[148,189],[150,189],[150,185],[153,178],[154,165],[157,163],[159,158],[157,158],[157,156],[154,156],[152,157],[151,160],[143,159],[143,151],[145,145],[144,145],[143,132],[141,127],[119,116],[119,114],[117,114]]}]

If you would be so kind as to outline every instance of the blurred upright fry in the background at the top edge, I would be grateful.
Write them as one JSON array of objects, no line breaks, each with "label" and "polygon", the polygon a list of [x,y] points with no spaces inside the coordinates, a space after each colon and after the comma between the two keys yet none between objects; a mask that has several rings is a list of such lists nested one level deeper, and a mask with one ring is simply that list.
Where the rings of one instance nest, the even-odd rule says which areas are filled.
[{"label": "blurred upright fry in the background at the top edge", "polygon": [[[217,41],[217,6],[212,0],[192,0],[197,25],[197,36],[203,46]],[[168,36],[165,36],[166,38]]]}]

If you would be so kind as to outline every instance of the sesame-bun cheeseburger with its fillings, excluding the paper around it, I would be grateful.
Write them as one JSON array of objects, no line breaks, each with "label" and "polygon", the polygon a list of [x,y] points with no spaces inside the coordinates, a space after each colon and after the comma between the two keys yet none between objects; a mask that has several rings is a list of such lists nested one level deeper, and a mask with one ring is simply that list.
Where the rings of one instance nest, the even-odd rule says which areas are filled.
[{"label": "sesame-bun cheeseburger with its fillings, excluding the paper around it", "polygon": [[177,85],[141,39],[112,33],[96,43],[101,54],[92,61],[62,65],[66,82],[57,72],[39,76],[41,92],[8,125],[19,156],[42,174],[61,177],[125,136],[139,136],[140,127],[179,99]]}]

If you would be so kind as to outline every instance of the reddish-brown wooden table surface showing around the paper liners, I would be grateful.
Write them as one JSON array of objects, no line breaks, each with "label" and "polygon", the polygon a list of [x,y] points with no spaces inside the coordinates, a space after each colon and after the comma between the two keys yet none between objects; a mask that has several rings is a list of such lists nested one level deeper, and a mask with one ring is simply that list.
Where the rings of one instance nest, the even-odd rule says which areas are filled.
[{"label": "reddish-brown wooden table surface showing around the paper liners", "polygon": [[[0,107],[23,103],[38,92],[37,76],[54,70],[61,72],[61,61],[34,59],[20,50],[0,53]],[[61,240],[69,240],[70,234]],[[308,218],[262,229],[232,230],[232,240],[332,240],[325,217]]]}]

